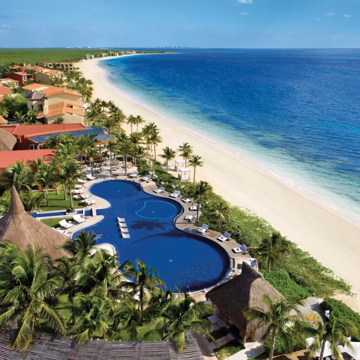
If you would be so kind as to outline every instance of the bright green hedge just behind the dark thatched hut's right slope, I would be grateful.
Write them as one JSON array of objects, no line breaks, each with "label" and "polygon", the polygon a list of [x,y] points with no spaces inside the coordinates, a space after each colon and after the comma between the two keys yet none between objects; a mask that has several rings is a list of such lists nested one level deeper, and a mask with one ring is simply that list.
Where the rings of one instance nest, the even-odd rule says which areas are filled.
[{"label": "bright green hedge just behind the dark thatched hut's right slope", "polygon": [[289,275],[284,271],[272,271],[270,274],[265,272],[264,278],[286,299],[305,299],[311,295],[309,289],[298,285],[294,280],[290,279]]}]

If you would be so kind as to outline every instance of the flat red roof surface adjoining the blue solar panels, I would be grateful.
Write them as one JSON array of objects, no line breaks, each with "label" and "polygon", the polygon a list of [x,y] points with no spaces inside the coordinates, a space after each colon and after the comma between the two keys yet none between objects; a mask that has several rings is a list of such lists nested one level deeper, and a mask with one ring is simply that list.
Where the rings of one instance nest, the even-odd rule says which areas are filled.
[{"label": "flat red roof surface adjoining the blue solar panels", "polygon": [[28,137],[63,131],[86,130],[82,124],[39,124],[39,125],[5,125],[0,129],[6,130],[15,137]]}]

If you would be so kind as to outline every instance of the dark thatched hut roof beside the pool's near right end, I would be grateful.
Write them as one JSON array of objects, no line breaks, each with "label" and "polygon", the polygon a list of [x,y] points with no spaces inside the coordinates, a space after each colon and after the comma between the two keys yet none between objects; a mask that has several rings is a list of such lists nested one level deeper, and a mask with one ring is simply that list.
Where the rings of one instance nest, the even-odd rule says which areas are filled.
[{"label": "dark thatched hut roof beside the pool's near right end", "polygon": [[243,310],[246,307],[267,310],[262,301],[263,295],[278,300],[283,299],[283,296],[264,279],[260,272],[243,262],[240,275],[210,290],[206,298],[211,300],[220,313],[240,330],[242,337],[246,335],[246,338],[258,341],[265,335],[267,326],[258,328],[257,321],[247,321],[243,316]]}]

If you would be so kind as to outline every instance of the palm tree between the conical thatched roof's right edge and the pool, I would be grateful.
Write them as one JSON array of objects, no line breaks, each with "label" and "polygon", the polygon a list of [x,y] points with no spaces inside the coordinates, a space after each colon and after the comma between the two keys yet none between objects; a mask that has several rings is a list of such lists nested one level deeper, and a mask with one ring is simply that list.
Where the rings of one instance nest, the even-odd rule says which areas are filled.
[{"label": "palm tree between the conical thatched roof's right edge and the pool", "polygon": [[95,233],[82,230],[77,238],[66,240],[61,247],[75,258],[77,263],[81,263],[95,250],[95,245]]}]

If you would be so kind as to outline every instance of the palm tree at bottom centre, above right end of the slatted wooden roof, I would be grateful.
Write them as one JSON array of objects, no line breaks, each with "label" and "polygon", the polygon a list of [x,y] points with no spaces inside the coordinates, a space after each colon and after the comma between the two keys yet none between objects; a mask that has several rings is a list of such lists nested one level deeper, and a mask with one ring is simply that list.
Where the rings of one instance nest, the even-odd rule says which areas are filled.
[{"label": "palm tree at bottom centre, above right end of the slatted wooden roof", "polygon": [[174,340],[176,350],[182,353],[186,348],[189,333],[203,335],[214,340],[211,336],[212,323],[207,319],[214,312],[212,305],[179,294],[160,312],[159,316],[150,322],[151,331],[146,335],[162,334],[163,341]]}]

